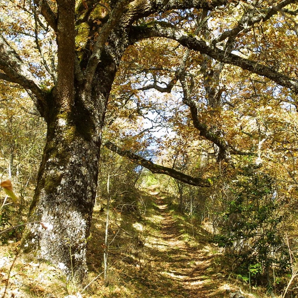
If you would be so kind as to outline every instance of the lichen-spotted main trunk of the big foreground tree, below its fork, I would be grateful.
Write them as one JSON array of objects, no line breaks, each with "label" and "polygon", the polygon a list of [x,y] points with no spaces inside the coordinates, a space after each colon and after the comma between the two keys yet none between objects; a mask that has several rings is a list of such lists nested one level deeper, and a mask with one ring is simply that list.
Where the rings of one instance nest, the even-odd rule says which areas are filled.
[{"label": "lichen-spotted main trunk of the big foreground tree, below its fork", "polygon": [[[85,111],[86,112],[86,111]],[[23,246],[81,278],[86,271],[86,239],[97,187],[100,137],[90,123],[78,128],[72,115],[59,114],[48,124],[38,184],[30,207]],[[80,114],[81,120],[90,117]],[[80,130],[85,130],[84,134]],[[80,131],[80,132],[79,132]]]}]

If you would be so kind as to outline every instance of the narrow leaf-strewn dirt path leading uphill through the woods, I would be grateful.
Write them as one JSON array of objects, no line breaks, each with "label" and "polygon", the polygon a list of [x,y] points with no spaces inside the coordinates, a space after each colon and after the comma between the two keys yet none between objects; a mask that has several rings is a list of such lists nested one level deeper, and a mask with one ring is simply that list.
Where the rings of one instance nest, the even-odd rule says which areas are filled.
[{"label": "narrow leaf-strewn dirt path leading uphill through the woods", "polygon": [[183,237],[181,223],[171,215],[166,199],[151,192],[156,200],[157,212],[160,215],[160,235],[156,243],[152,243],[159,253],[160,275],[167,276],[173,288],[180,289],[176,297],[203,298],[219,297],[218,290],[223,287],[212,272],[213,255],[202,235],[199,246],[191,246]]}]

